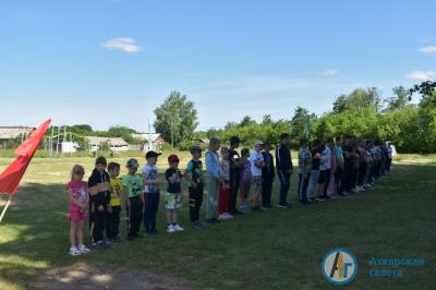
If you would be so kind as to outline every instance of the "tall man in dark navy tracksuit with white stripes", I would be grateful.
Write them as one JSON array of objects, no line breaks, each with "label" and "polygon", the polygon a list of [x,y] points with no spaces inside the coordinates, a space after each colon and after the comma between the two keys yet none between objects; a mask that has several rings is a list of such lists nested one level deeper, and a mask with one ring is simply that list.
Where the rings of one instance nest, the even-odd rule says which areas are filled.
[{"label": "tall man in dark navy tracksuit with white stripes", "polygon": [[288,192],[291,186],[291,174],[293,172],[291,150],[289,149],[289,134],[280,135],[280,145],[276,149],[277,174],[280,180],[279,208],[287,208]]}]

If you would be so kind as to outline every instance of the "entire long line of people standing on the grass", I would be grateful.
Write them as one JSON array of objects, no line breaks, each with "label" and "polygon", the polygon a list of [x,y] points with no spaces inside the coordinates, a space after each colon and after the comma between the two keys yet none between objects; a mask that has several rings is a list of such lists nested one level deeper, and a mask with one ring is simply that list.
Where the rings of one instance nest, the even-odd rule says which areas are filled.
[{"label": "entire long line of people standing on the grass", "polygon": [[[241,157],[239,157],[235,148],[238,148],[240,140],[232,137],[232,142],[233,145],[230,149],[221,148],[220,159],[218,155],[220,141],[211,138],[209,149],[205,155],[208,186],[206,220],[210,223],[232,218],[231,213],[246,212],[252,184],[252,210],[271,208],[275,162],[270,154],[270,145],[256,142],[252,153],[250,149],[243,148]],[[276,158],[279,158],[277,171],[281,183],[279,207],[287,207],[287,188],[290,184],[288,179],[292,173],[292,159],[288,144],[289,136],[283,134],[276,152]],[[346,137],[343,144],[329,138],[324,145],[322,141],[316,140],[312,152],[308,149],[306,138],[302,138],[300,145],[298,196],[299,201],[304,204],[315,200],[324,201],[329,196],[346,196],[367,190],[373,186],[378,177],[388,177],[390,170],[392,159],[390,144],[383,145],[373,141],[356,141]],[[201,160],[202,149],[194,146],[191,148],[191,154],[192,159],[189,161],[184,174],[179,169],[179,157],[177,155],[168,157],[169,168],[165,172],[168,184],[165,207],[169,233],[183,231],[178,221],[179,210],[182,208],[183,178],[189,182],[192,227],[202,227],[199,212],[205,186]],[[123,200],[125,200],[128,215],[128,240],[140,237],[143,219],[146,235],[158,233],[156,218],[161,181],[156,164],[159,155],[155,152],[146,154],[146,165],[142,169],[142,174],[137,174],[138,161],[134,158],[129,159],[126,162],[129,173],[122,178],[119,178],[119,164],[110,162],[107,172],[106,159],[98,157],[87,183],[83,181],[84,168],[78,165],[73,167],[71,181],[66,186],[70,194],[70,255],[90,252],[83,242],[83,225],[87,210],[89,210],[93,249],[105,249],[106,243],[117,244],[121,241],[119,225]],[[238,185],[234,184],[235,181],[239,181]],[[235,203],[231,198],[234,193],[238,194],[238,189],[241,202],[239,210],[235,212],[232,208]],[[317,196],[314,196],[315,192]],[[124,196],[125,198],[123,198]],[[107,240],[104,239],[105,229]]]}]

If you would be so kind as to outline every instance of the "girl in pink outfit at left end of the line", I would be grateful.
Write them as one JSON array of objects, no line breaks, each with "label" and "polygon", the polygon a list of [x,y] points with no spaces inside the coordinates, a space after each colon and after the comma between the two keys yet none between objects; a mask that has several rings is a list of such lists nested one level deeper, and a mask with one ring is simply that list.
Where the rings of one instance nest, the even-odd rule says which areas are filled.
[{"label": "girl in pink outfit at left end of the line", "polygon": [[83,166],[75,165],[71,171],[71,181],[66,185],[70,194],[70,255],[89,253],[90,250],[83,244],[83,223],[87,210],[87,184],[82,181],[85,174]]}]

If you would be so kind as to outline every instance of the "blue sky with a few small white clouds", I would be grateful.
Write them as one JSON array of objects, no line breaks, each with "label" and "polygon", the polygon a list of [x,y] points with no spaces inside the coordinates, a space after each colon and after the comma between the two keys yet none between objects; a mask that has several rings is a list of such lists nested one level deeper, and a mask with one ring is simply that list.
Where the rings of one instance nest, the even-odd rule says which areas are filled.
[{"label": "blue sky with a few small white clouds", "polygon": [[[322,114],[436,78],[436,1],[1,0],[0,125],[146,132],[171,90],[201,130]],[[415,99],[416,101],[416,99]]]}]

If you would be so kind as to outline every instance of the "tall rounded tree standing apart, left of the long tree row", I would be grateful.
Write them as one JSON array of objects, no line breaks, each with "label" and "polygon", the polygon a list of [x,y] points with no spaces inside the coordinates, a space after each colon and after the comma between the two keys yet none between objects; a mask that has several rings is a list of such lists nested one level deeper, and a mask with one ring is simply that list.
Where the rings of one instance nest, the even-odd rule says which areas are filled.
[{"label": "tall rounded tree standing apart, left of the long tree row", "polygon": [[193,141],[194,131],[198,126],[197,111],[194,102],[189,101],[180,92],[171,92],[160,107],[155,109],[156,132],[178,146],[182,141]]}]

